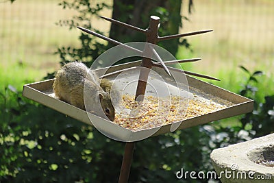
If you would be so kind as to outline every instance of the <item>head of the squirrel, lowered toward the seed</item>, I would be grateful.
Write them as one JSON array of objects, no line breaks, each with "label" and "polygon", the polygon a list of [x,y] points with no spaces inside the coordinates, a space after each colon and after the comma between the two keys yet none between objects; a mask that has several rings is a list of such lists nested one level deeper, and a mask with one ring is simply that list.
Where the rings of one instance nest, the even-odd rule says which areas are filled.
[{"label": "head of the squirrel, lowered toward the seed", "polygon": [[99,99],[101,103],[101,107],[105,115],[110,119],[110,121],[114,121],[115,119],[115,109],[112,105],[110,94],[104,91],[99,92]]}]

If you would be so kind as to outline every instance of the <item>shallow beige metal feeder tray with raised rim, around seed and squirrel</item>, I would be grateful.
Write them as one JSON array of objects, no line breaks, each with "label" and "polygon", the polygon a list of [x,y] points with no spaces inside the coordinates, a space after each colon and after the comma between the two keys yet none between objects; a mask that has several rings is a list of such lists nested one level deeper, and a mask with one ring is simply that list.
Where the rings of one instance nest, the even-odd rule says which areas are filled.
[{"label": "shallow beige metal feeder tray with raised rim, around seed and squirrel", "polygon": [[[120,64],[108,68],[97,69],[95,70],[95,72],[97,73],[97,75],[100,76],[105,73],[111,73],[133,66],[140,66],[140,62],[130,62],[128,64]],[[160,75],[162,75],[162,77],[167,77],[164,69],[153,68],[153,70],[157,71]],[[177,71],[171,71],[171,73],[173,74],[176,74],[176,72]],[[108,79],[114,80],[115,77],[116,75],[112,75],[111,77],[108,77]],[[195,94],[197,95],[197,99],[199,100],[213,101],[220,105],[223,105],[224,103],[229,104],[226,104],[225,107],[221,108],[220,110],[209,112],[208,114],[203,114],[197,117],[190,117],[182,121],[174,121],[173,123],[162,125],[158,127],[158,130],[155,130],[155,128],[149,128],[133,131],[125,127],[121,127],[120,125],[116,125],[115,123],[112,123],[112,121],[97,117],[94,114],[88,114],[85,110],[76,108],[69,103],[57,99],[53,93],[52,87],[54,79],[45,80],[42,82],[35,82],[32,84],[25,84],[23,87],[23,96],[37,101],[38,103],[52,108],[53,110],[62,112],[63,114],[82,121],[88,125],[92,125],[92,122],[96,121],[96,123],[100,124],[99,129],[97,127],[99,131],[103,132],[104,134],[108,134],[109,137],[126,142],[136,141],[135,139],[141,139],[140,136],[148,136],[148,134],[151,133],[153,134],[153,136],[157,136],[160,134],[173,132],[174,130],[182,130],[188,127],[201,125],[210,121],[234,117],[236,115],[245,114],[253,110],[253,100],[251,99],[247,99],[246,97],[242,97],[235,93],[229,92],[228,90],[225,90],[223,88],[219,88],[207,82],[203,82],[196,79],[195,77],[190,77],[186,75],[186,79],[188,80],[188,92],[190,93],[190,95]],[[121,79],[121,82],[129,82],[129,80],[125,77]],[[175,84],[173,85],[172,82],[169,83],[169,85],[175,87]]]}]

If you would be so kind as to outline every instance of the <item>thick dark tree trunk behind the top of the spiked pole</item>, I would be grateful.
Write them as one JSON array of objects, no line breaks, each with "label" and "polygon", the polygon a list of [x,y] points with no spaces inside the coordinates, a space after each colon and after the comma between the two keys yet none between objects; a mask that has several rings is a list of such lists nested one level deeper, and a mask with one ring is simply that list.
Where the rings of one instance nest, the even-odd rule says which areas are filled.
[{"label": "thick dark tree trunk behind the top of the spiked pole", "polygon": [[[149,25],[149,17],[151,15],[159,16],[161,25],[158,34],[159,36],[168,36],[178,34],[179,27],[182,26],[181,6],[182,1],[178,0],[114,0],[112,19],[146,29]],[[112,23],[110,38],[121,42],[145,42],[146,36],[140,32]],[[178,42],[178,39],[164,40],[159,42],[158,45],[175,55],[178,49]]]}]

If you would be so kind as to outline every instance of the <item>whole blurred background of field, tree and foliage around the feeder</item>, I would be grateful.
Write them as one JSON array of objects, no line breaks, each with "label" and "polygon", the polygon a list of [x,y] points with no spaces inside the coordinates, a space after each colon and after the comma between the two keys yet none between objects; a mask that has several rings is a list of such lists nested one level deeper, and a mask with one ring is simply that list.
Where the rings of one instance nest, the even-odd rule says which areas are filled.
[{"label": "whole blurred background of field, tree and foliage around the feeder", "polygon": [[[221,82],[205,81],[256,102],[251,114],[137,143],[131,182],[175,182],[174,172],[181,167],[212,170],[212,149],[273,132],[274,1],[155,2],[158,6],[146,13],[160,16],[163,27],[177,28],[175,32],[160,30],[160,36],[214,30],[179,40],[176,49],[168,49],[177,59],[202,58],[182,65],[184,69],[217,77]],[[179,14],[172,11],[173,4],[179,5]],[[83,36],[74,25],[119,38],[123,30],[97,16],[112,17],[113,5],[120,5],[116,8],[120,10],[118,20],[134,21],[130,12],[138,6],[125,1],[0,0],[0,182],[112,182],[112,175],[119,175],[123,143],[21,96],[23,84],[51,78],[60,62],[91,62],[111,47],[105,41]],[[144,20],[149,16],[144,17],[142,12],[138,15],[142,19],[136,25],[146,28]],[[129,40],[120,38],[121,42]],[[79,55],[85,44],[92,52]],[[150,156],[144,158],[143,154]],[[110,161],[115,171],[105,168]]]}]

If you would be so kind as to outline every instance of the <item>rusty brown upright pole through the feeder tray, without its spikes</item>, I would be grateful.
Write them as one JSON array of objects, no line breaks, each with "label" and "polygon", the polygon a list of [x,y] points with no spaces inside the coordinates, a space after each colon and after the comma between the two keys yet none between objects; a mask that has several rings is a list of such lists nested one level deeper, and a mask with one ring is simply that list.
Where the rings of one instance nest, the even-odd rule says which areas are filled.
[{"label": "rusty brown upright pole through the feeder tray, without its spikes", "polygon": [[[146,30],[147,33],[147,42],[155,44],[158,42],[158,25],[160,23],[160,18],[158,16],[151,16],[149,21],[149,28]],[[149,51],[149,48],[145,48]],[[152,50],[151,50],[152,52]],[[152,53],[151,53],[152,54]],[[141,66],[146,67],[147,69],[141,69],[135,100],[142,101],[144,99],[145,90],[147,87],[147,79],[149,77],[149,69],[152,67],[152,62],[149,58],[142,58]],[[134,154],[134,146],[133,143],[125,143],[125,152],[123,156],[122,167],[119,176],[119,183],[127,183],[129,179],[130,167],[132,165],[132,158]]]}]

